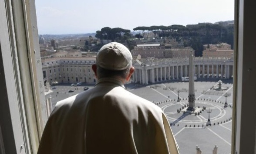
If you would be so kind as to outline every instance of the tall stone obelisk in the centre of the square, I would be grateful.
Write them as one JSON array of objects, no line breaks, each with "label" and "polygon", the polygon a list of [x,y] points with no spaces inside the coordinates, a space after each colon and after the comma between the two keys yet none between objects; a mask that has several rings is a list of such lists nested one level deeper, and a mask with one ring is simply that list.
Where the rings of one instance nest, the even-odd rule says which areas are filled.
[{"label": "tall stone obelisk in the centre of the square", "polygon": [[189,107],[187,110],[194,111],[195,107],[195,86],[194,86],[194,56],[189,56]]}]

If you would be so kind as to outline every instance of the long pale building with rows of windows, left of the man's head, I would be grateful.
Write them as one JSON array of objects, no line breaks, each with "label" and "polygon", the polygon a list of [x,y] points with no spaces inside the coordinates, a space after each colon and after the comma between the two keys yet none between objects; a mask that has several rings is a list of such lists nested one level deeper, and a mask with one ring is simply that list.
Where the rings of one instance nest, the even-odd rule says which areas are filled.
[{"label": "long pale building with rows of windows, left of the man's head", "polygon": [[[53,83],[95,83],[91,65],[95,57],[42,59],[44,85]],[[57,82],[56,82],[57,81]]]}]

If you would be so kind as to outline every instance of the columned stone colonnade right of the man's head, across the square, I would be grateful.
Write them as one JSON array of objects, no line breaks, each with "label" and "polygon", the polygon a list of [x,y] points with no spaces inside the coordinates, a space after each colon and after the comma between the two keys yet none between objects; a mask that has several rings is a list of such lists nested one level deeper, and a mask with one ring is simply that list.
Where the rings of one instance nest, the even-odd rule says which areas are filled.
[{"label": "columned stone colonnade right of the man's head, across the square", "polygon": [[[233,76],[232,58],[194,58],[197,78],[230,79]],[[149,84],[167,80],[181,80],[189,76],[189,58],[140,59],[133,63],[133,83]]]}]

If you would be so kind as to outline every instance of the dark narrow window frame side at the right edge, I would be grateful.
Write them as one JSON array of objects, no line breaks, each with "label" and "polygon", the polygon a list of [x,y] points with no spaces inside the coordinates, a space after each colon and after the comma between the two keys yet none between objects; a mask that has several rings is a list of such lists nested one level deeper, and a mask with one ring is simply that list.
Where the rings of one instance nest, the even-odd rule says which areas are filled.
[{"label": "dark narrow window frame side at the right edge", "polygon": [[256,153],[255,8],[256,1],[235,0],[232,154]]}]

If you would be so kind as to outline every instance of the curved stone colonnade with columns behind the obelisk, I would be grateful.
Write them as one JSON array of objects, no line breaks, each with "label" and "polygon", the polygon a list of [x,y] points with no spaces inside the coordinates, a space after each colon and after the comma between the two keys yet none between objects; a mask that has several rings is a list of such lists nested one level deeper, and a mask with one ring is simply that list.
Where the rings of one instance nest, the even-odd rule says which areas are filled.
[{"label": "curved stone colonnade with columns behind the obelisk", "polygon": [[[205,62],[205,63],[204,63]],[[194,76],[197,78],[229,79],[233,75],[232,61],[194,61]],[[189,76],[189,64],[179,61],[172,64],[134,64],[135,72],[132,76],[133,83],[148,84],[166,80],[181,80]]]}]

